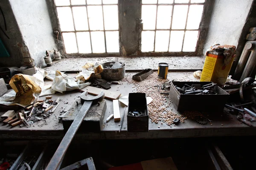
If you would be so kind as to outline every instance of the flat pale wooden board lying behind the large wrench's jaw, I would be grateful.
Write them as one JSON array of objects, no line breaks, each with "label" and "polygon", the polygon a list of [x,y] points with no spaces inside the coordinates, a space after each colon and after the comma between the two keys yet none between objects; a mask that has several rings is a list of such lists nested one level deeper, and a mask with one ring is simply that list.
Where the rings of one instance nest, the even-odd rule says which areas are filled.
[{"label": "flat pale wooden board lying behind the large wrench's jaw", "polygon": [[111,99],[111,100],[118,99],[119,96],[121,95],[121,93],[118,93],[118,92],[104,90],[102,88],[95,88],[95,87],[92,87],[92,86],[87,86],[87,87],[83,88],[83,90],[88,91],[89,94],[92,94],[92,95],[95,95],[95,96],[99,95],[101,91],[104,91],[105,98],[106,99]]}]

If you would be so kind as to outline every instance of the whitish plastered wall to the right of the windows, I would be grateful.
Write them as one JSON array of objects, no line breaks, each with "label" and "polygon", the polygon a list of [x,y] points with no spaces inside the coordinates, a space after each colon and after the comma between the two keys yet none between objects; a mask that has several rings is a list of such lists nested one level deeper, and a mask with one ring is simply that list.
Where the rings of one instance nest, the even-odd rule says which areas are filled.
[{"label": "whitish plastered wall to the right of the windows", "polygon": [[238,46],[253,0],[215,0],[204,52],[216,43]]}]

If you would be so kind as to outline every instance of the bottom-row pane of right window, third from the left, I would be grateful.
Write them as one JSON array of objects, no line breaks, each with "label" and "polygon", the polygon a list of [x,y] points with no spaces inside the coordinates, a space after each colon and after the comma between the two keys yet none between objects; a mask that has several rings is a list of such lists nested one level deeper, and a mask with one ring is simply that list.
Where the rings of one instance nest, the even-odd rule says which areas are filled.
[{"label": "bottom-row pane of right window, third from the left", "polygon": [[169,51],[181,51],[184,31],[171,31]]}]

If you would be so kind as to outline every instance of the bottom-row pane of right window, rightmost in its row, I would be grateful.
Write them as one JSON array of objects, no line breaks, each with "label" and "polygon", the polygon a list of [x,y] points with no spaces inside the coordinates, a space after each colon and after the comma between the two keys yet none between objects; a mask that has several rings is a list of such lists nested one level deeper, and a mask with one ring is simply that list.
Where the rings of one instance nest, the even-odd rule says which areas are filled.
[{"label": "bottom-row pane of right window, rightmost in its row", "polygon": [[198,31],[186,31],[182,51],[195,51]]}]

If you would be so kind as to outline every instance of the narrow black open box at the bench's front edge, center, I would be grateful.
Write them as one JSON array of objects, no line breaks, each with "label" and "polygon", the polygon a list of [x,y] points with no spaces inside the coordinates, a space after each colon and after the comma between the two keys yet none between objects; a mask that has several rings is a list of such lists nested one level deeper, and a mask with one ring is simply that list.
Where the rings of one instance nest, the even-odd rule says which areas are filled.
[{"label": "narrow black open box at the bench's front edge, center", "polygon": [[[128,132],[148,132],[148,106],[145,93],[130,93],[127,114]],[[129,113],[142,112],[141,116],[132,116]]]}]

